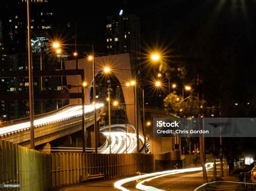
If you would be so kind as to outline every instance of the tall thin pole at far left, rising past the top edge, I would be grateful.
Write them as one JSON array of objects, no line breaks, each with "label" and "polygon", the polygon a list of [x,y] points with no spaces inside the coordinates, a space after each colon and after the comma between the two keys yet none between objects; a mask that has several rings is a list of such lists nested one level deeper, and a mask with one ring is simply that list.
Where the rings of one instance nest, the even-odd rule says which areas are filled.
[{"label": "tall thin pole at far left, rising past the top edge", "polygon": [[28,12],[28,61],[29,61],[29,116],[30,116],[30,148],[35,149],[34,130],[34,105],[33,105],[33,71],[32,71],[32,51],[30,34],[30,1],[26,1]]}]

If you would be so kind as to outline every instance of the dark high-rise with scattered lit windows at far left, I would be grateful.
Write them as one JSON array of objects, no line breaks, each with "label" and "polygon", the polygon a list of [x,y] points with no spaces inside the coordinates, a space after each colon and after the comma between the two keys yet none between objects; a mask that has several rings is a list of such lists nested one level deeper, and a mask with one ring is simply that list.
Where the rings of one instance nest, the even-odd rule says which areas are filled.
[{"label": "dark high-rise with scattered lit windows at far left", "polygon": [[[33,70],[39,70],[41,67],[42,69],[53,69],[57,67],[57,58],[55,61],[50,59],[52,56],[49,56],[48,48],[49,36],[54,25],[51,1],[30,1]],[[28,70],[26,0],[3,1],[0,6],[3,8],[0,14],[0,70]],[[0,94],[28,94],[28,80],[28,77],[1,79],[0,76]],[[49,77],[43,77],[45,90],[54,90],[52,84],[57,88],[56,83],[55,79],[51,80]],[[35,94],[40,93],[42,89],[40,77],[34,77],[33,87]],[[42,104],[35,101],[35,114],[42,112],[41,107]],[[44,102],[44,110],[46,108],[51,108],[48,102]],[[1,101],[0,120],[5,121],[26,116],[29,116],[28,101]]]}]

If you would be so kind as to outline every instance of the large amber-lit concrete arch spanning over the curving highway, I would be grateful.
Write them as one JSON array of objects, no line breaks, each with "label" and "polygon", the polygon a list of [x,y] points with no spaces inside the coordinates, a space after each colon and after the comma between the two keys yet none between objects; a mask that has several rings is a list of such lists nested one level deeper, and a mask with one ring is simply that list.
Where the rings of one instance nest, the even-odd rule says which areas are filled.
[{"label": "large amber-lit concrete arch spanning over the curving highway", "polygon": [[[93,79],[92,71],[92,61],[89,61],[87,58],[79,59],[78,66],[80,69],[84,69],[84,76],[86,82],[91,82]],[[132,67],[130,62],[130,54],[117,54],[110,56],[100,56],[95,58],[95,73],[100,72],[105,66],[112,68],[111,73],[115,75],[120,83],[125,83],[134,79],[132,74]],[[66,69],[75,69],[76,61],[69,60],[65,61]],[[120,70],[123,69],[123,70]],[[78,76],[66,76],[67,84],[77,85],[82,84],[80,77]],[[134,88],[133,87],[123,87],[124,101],[126,105],[127,119],[131,125],[135,126],[134,117]],[[70,93],[81,92],[81,88],[72,88],[69,90]],[[90,89],[85,89],[85,103],[89,103]],[[79,103],[78,100],[70,100],[70,103]],[[142,122],[140,121],[140,112],[138,112],[138,125],[139,132],[142,133]]]}]

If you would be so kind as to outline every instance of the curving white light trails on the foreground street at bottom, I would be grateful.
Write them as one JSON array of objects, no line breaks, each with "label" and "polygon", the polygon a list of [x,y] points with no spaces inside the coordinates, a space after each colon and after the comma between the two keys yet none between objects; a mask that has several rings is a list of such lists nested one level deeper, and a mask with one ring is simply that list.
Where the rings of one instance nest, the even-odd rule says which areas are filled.
[{"label": "curving white light trails on the foreground street at bottom", "polygon": [[[216,162],[216,164],[217,163],[218,162]],[[206,167],[206,169],[212,168],[213,167],[213,162],[206,163],[205,167]],[[149,178],[149,177],[154,176],[152,178],[145,179],[145,180],[139,182],[136,185],[136,188],[140,189],[140,190],[151,190],[151,191],[153,191],[153,190],[161,190],[161,189],[154,188],[154,187],[151,187],[151,186],[145,186],[145,185],[143,185],[143,183],[146,182],[146,181],[157,179],[157,178],[160,178],[160,177],[163,177],[163,176],[168,176],[168,175],[171,175],[171,174],[178,174],[178,173],[185,173],[185,172],[196,172],[196,171],[201,171],[202,169],[203,169],[202,167],[185,168],[185,169],[174,169],[174,170],[170,170],[170,171],[154,172],[154,173],[149,173],[149,174],[132,176],[130,178],[126,178],[126,179],[122,179],[122,180],[119,180],[117,182],[114,182],[114,187],[116,187],[116,188],[118,188],[120,190],[123,190],[123,191],[127,191],[129,189],[126,189],[126,188],[124,188],[122,186],[122,185],[124,185],[124,183],[135,181],[135,180],[138,180],[138,179],[145,179],[145,178]]]}]

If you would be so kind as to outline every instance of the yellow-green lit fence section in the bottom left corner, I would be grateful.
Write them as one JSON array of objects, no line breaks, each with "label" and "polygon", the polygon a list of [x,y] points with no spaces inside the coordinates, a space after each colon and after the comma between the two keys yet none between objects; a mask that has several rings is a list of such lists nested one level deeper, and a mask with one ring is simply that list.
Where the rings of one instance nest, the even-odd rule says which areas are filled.
[{"label": "yellow-green lit fence section in the bottom left corner", "polygon": [[4,190],[48,190],[50,159],[43,152],[0,140],[0,185],[9,187]]}]

